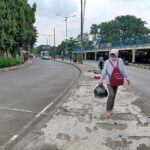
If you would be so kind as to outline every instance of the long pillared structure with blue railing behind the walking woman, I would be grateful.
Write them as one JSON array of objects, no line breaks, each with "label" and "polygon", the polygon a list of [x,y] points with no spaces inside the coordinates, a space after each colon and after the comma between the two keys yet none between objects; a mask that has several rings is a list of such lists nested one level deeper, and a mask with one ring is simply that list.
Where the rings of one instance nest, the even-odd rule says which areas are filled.
[{"label": "long pillared structure with blue railing behind the walking woman", "polygon": [[150,63],[150,36],[142,38],[128,38],[112,43],[98,43],[96,46],[81,48],[77,47],[73,50],[73,54],[83,54],[84,60],[98,60],[102,54],[106,60],[112,48],[119,50],[119,57],[124,61],[131,63]]}]

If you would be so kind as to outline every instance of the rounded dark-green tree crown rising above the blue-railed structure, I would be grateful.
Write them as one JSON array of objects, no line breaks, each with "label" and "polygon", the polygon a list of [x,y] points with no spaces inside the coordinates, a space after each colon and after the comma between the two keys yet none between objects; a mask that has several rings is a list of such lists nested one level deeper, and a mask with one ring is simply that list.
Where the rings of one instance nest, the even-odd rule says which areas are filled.
[{"label": "rounded dark-green tree crown rising above the blue-railed structure", "polygon": [[90,34],[93,37],[99,35],[102,43],[131,37],[143,37],[150,33],[150,29],[145,27],[145,24],[145,21],[135,16],[118,16],[114,20],[102,22],[99,25],[93,24]]}]

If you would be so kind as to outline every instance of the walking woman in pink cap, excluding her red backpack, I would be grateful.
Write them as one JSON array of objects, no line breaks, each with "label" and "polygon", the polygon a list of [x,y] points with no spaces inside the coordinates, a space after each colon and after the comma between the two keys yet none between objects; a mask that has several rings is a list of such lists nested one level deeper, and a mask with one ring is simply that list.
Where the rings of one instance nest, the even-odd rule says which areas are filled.
[{"label": "walking woman in pink cap, excluding her red backpack", "polygon": [[107,100],[107,106],[106,106],[106,115],[110,117],[113,112],[113,107],[114,107],[114,101],[117,93],[118,86],[112,86],[110,84],[110,76],[114,70],[113,66],[117,66],[122,74],[122,76],[127,80],[128,85],[130,85],[130,80],[128,79],[128,75],[125,70],[125,66],[123,63],[123,60],[121,58],[118,58],[119,51],[118,49],[112,49],[110,51],[109,59],[105,61],[104,63],[104,68],[102,70],[102,75],[101,75],[101,80],[99,85],[102,85],[103,80],[106,79],[108,91],[109,91],[109,96]]}]

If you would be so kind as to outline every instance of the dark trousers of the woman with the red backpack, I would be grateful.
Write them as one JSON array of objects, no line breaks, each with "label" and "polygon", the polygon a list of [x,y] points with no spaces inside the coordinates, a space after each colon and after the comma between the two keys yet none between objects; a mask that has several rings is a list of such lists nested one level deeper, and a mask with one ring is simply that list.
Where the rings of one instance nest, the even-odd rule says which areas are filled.
[{"label": "dark trousers of the woman with the red backpack", "polygon": [[116,97],[118,86],[111,86],[110,84],[107,84],[107,87],[109,91],[109,96],[107,100],[106,110],[110,111],[114,107],[114,102],[115,102],[115,97]]}]

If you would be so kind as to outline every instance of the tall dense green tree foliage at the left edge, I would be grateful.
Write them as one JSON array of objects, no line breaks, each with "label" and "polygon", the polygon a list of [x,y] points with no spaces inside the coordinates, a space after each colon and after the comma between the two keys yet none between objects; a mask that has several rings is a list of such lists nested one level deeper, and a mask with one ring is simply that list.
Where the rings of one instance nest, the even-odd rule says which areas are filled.
[{"label": "tall dense green tree foliage at the left edge", "polygon": [[29,50],[36,42],[36,4],[31,7],[27,0],[0,1],[0,55],[8,51],[12,56],[20,48]]}]

